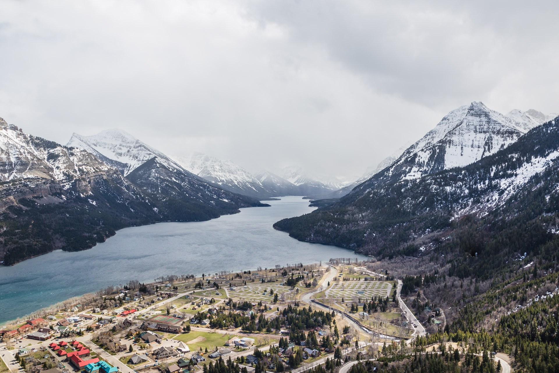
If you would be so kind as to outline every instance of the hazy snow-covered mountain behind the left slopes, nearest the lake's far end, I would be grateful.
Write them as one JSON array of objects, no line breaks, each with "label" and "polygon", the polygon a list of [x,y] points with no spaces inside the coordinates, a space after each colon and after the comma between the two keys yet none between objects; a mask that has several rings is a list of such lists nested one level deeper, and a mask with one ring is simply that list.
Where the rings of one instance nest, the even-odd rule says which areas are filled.
[{"label": "hazy snow-covered mountain behind the left slopes, nearest the lake's far end", "polygon": [[258,198],[278,196],[263,186],[257,178],[230,160],[193,153],[186,157],[173,157],[188,171],[216,183],[225,190]]}]

